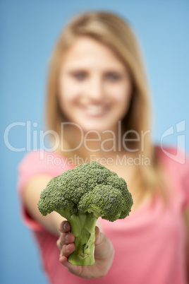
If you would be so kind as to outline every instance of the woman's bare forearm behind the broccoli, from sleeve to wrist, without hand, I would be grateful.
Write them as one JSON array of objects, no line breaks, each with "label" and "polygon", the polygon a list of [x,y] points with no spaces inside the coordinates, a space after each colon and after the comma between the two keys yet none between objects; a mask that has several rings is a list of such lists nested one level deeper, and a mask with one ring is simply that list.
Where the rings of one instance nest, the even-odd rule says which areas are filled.
[{"label": "woman's bare forearm behind the broccoli, from sleeve to wrist, without hand", "polygon": [[49,176],[39,176],[31,179],[23,191],[23,202],[33,219],[41,223],[52,234],[59,236],[60,223],[65,219],[55,211],[44,217],[37,207],[41,191],[47,187],[50,179]]}]

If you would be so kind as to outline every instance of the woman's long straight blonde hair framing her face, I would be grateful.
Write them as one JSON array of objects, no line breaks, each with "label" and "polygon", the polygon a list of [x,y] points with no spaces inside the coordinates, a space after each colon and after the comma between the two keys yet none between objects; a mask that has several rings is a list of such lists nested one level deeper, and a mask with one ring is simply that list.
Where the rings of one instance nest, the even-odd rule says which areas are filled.
[{"label": "woman's long straight blonde hair framing her face", "polygon": [[[66,121],[58,101],[59,69],[63,54],[77,37],[83,35],[92,37],[111,48],[128,68],[133,84],[133,94],[128,113],[122,121],[124,130],[132,130],[138,134],[141,134],[142,131],[149,131],[151,129],[150,95],[138,42],[126,20],[114,13],[104,11],[94,11],[76,16],[61,33],[49,69],[47,96],[47,125],[49,129],[53,129],[60,134],[61,123]],[[130,131],[130,138],[132,138],[132,131]],[[138,148],[138,153],[150,159],[150,166],[138,167],[140,188],[160,189],[160,166],[150,135],[145,136],[145,148],[141,149],[141,142],[137,139],[132,143],[130,142],[129,147],[130,149]]]}]

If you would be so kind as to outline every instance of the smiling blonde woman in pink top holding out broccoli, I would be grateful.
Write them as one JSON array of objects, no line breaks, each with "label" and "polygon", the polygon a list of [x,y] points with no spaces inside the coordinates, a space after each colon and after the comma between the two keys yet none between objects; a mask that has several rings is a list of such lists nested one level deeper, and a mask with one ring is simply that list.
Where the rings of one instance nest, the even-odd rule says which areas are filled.
[{"label": "smiling blonde woman in pink top holding out broccoli", "polygon": [[[51,151],[28,153],[18,176],[23,217],[50,283],[188,283],[189,162],[153,145],[150,122],[145,69],[128,23],[106,12],[73,18],[49,67]],[[71,225],[56,212],[42,217],[37,201],[52,177],[91,160],[126,179],[134,204],[126,219],[99,218],[95,264],[73,266]]]}]

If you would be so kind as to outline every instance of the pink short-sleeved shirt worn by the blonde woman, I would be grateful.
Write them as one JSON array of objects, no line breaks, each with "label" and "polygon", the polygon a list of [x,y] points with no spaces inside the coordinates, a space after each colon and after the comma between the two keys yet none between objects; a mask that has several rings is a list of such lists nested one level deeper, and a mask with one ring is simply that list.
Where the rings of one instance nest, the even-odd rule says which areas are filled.
[{"label": "pink short-sleeved shirt worn by the blonde woman", "polygon": [[[168,158],[159,148],[159,158],[169,172],[173,188],[169,205],[157,199],[123,220],[101,219],[104,234],[114,245],[114,262],[104,278],[86,280],[73,276],[59,263],[57,237],[30,218],[23,202],[23,221],[35,235],[50,283],[53,284],[186,284],[186,234],[183,210],[189,203],[189,162]],[[70,165],[68,165],[70,163]],[[71,160],[55,153],[28,153],[18,167],[18,192],[39,174],[55,177],[73,168]]]}]

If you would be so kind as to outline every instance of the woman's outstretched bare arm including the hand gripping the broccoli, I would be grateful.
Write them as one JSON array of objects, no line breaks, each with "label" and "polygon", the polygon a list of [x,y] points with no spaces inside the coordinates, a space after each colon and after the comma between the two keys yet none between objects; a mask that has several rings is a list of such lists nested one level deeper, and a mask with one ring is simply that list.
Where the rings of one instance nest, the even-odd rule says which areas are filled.
[{"label": "woman's outstretched bare arm including the hand gripping the broccoli", "polygon": [[[66,266],[71,273],[80,276],[82,278],[99,278],[109,271],[111,263],[114,258],[114,248],[110,240],[99,232],[99,228],[96,228],[96,241],[95,241],[95,264],[94,266],[73,266],[68,262],[68,255],[74,251],[75,245],[74,235],[69,233],[71,227],[68,222],[63,223],[65,220],[59,213],[53,211],[47,216],[42,216],[37,207],[39,196],[41,191],[47,187],[47,183],[51,177],[40,176],[31,179],[23,192],[23,201],[31,217],[41,223],[49,232],[54,235],[60,236],[57,241],[57,245],[61,250],[60,262]],[[66,239],[68,235],[68,239]],[[68,245],[68,249],[67,249]]]}]

